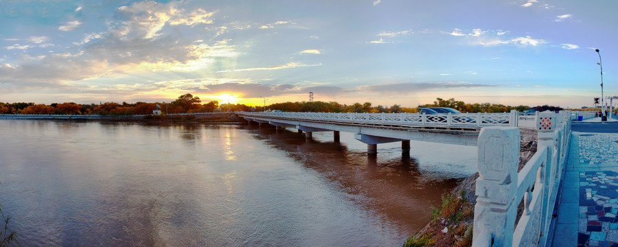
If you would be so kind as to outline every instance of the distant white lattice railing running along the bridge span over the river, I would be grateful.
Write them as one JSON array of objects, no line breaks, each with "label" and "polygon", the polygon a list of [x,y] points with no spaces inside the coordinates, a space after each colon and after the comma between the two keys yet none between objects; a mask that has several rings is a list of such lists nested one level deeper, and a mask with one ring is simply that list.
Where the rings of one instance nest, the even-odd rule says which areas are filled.
[{"label": "distant white lattice railing running along the bridge span over the river", "polygon": [[310,121],[338,121],[353,124],[401,124],[413,126],[518,126],[518,113],[275,113],[236,112],[247,117],[273,117]]}]

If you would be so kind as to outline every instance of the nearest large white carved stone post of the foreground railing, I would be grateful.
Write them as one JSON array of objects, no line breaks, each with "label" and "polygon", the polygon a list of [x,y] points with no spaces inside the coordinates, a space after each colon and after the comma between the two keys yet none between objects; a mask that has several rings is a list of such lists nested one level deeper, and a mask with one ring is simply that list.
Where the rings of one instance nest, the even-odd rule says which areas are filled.
[{"label": "nearest large white carved stone post of the foreground railing", "polygon": [[[487,127],[479,134],[477,204],[474,233],[492,235],[494,246],[512,246],[517,205],[518,128]],[[473,242],[474,242],[473,240]],[[474,242],[474,244],[481,244]],[[488,244],[488,243],[485,243]]]}]

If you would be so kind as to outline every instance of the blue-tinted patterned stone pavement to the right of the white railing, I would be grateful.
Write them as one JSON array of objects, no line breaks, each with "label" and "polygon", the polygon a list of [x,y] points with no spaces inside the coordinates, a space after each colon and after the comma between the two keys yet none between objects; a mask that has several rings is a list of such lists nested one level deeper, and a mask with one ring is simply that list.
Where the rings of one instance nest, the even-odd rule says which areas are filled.
[{"label": "blue-tinted patterned stone pavement to the right of the white railing", "polygon": [[552,246],[618,247],[618,123],[597,125],[571,136]]}]

